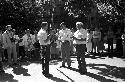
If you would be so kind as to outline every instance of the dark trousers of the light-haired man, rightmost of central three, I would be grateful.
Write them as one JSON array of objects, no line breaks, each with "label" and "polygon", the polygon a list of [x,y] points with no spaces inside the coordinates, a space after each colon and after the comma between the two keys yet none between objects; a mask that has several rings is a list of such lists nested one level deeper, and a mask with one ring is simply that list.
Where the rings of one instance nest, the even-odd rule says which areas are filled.
[{"label": "dark trousers of the light-haired man, rightmost of central three", "polygon": [[86,44],[76,45],[78,68],[80,72],[86,72],[85,52]]}]

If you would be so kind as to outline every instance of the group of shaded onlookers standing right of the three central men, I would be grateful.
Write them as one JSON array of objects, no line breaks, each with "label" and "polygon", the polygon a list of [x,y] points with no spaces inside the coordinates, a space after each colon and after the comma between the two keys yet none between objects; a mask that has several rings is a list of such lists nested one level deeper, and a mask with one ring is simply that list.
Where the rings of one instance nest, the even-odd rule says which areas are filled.
[{"label": "group of shaded onlookers standing right of the three central men", "polygon": [[[110,53],[109,56],[115,56],[116,54],[114,53],[118,53],[119,57],[123,57],[123,36],[124,32],[121,29],[118,29],[116,32],[111,27],[107,31],[99,28],[95,28],[95,30],[88,29],[87,52],[100,53],[106,51]],[[107,50],[105,49],[105,44],[107,44]]]}]

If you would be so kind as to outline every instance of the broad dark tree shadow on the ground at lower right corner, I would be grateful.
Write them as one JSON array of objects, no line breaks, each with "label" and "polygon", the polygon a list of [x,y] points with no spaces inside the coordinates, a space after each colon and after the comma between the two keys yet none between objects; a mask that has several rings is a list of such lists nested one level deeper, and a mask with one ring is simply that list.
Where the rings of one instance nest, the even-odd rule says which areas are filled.
[{"label": "broad dark tree shadow on the ground at lower right corner", "polygon": [[125,81],[125,68],[110,66],[106,64],[88,64],[91,69],[99,70],[98,74],[107,76],[110,78],[119,78]]}]

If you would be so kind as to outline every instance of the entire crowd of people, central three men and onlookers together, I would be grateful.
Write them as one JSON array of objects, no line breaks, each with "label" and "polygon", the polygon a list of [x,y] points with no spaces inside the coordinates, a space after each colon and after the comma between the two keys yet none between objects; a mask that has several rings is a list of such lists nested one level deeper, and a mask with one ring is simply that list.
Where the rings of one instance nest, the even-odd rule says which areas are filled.
[{"label": "entire crowd of people, central three men and onlookers together", "polygon": [[[114,33],[111,28],[104,33],[103,29],[87,29],[82,22],[76,22],[76,31],[67,28],[62,22],[60,29],[48,31],[49,24],[42,22],[41,29],[24,35],[16,35],[11,25],[6,26],[6,31],[0,31],[0,71],[4,72],[2,62],[7,59],[10,66],[18,65],[18,59],[42,62],[43,74],[50,77],[49,61],[62,59],[61,67],[71,68],[71,55],[77,56],[80,74],[86,74],[85,53],[100,54],[104,51],[104,43],[108,43],[108,52],[113,53],[113,44],[116,40],[116,52],[123,52],[125,57],[125,30]],[[122,47],[123,46],[123,47]],[[110,54],[110,56],[111,56]],[[66,65],[67,63],[67,65]]]}]

